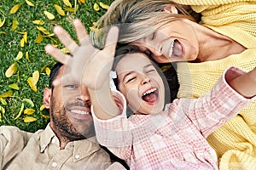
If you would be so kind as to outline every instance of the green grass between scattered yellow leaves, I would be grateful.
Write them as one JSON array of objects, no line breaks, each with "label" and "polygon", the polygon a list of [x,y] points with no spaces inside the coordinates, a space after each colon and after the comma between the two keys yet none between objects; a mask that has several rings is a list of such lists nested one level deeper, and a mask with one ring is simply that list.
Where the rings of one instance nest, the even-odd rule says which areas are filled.
[{"label": "green grass between scattered yellow leaves", "polygon": [[[39,31],[36,24],[33,24],[33,20],[43,20],[43,27],[53,33],[53,27],[55,25],[63,26],[71,36],[76,39],[75,31],[73,30],[73,20],[79,18],[84,23],[87,31],[92,23],[99,19],[99,17],[106,12],[106,9],[100,8],[99,11],[95,11],[93,6],[94,3],[99,4],[100,2],[110,4],[113,0],[85,0],[85,3],[79,3],[75,0],[69,0],[72,7],[77,5],[78,9],[76,12],[67,12],[65,10],[65,16],[61,16],[57,13],[54,4],[61,6],[61,8],[67,7],[62,0],[46,0],[37,1],[30,0],[34,4],[34,7],[29,6],[25,0],[4,0],[0,2],[0,26],[5,20],[3,26],[0,27],[0,96],[9,90],[13,92],[8,97],[2,97],[0,99],[0,125],[13,125],[20,127],[20,129],[35,132],[39,128],[44,128],[49,122],[49,111],[40,111],[40,106],[43,105],[43,93],[44,88],[48,87],[49,77],[46,74],[45,67],[51,68],[55,64],[55,60],[46,54],[44,46],[48,43],[58,44],[58,48],[63,48],[61,42],[57,37],[44,37],[42,42],[36,42],[38,32],[42,35],[44,33]],[[20,8],[15,14],[10,14],[11,8],[16,4],[21,4]],[[54,20],[49,20],[44,11],[48,11],[55,15]],[[17,20],[19,25],[14,31],[12,31],[13,21]],[[20,40],[23,38],[23,34],[20,32],[27,32],[27,42],[24,47],[20,47]],[[17,72],[11,76],[6,77],[5,72],[9,66],[15,62],[15,58],[19,52],[23,53],[23,57],[16,61]],[[28,58],[25,56],[28,53]],[[37,82],[37,92],[33,91],[28,85],[27,79],[32,77],[34,71],[39,71],[39,79]],[[9,88],[10,84],[17,84],[19,90]],[[31,99],[34,106],[24,101],[24,99]],[[24,114],[18,116],[20,107],[24,104],[24,110],[33,109],[35,112],[32,115]],[[4,111],[3,111],[4,110]],[[3,113],[5,112],[5,113]],[[24,122],[26,116],[32,116],[37,120],[34,122]]]}]

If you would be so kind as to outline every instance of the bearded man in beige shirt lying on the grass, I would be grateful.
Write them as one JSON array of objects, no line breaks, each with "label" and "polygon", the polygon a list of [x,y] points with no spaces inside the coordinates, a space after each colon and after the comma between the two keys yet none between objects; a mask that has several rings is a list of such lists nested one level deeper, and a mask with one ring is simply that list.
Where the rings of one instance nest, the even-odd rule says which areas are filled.
[{"label": "bearded man in beige shirt lying on the grass", "polygon": [[57,63],[44,89],[50,122],[36,133],[0,127],[1,169],[125,169],[96,142],[87,88]]}]

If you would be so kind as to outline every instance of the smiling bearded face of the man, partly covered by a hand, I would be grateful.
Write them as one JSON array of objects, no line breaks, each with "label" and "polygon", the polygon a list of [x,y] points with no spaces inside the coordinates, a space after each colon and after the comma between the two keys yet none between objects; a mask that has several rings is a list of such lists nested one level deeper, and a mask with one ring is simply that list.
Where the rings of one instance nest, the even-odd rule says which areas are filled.
[{"label": "smiling bearded face of the man, partly covered by a hand", "polygon": [[68,77],[63,78],[64,69],[65,66],[61,66],[53,82],[54,88],[50,89],[50,127],[59,138],[90,138],[95,135],[90,114],[90,95],[84,85]]}]

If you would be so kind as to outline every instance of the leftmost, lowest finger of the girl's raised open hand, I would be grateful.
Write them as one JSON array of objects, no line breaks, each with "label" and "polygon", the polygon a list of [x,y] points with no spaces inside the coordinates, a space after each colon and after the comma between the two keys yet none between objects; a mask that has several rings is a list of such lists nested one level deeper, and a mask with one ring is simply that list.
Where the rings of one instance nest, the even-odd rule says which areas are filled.
[{"label": "leftmost, lowest finger of the girl's raised open hand", "polygon": [[67,61],[71,59],[70,55],[62,53],[60,49],[49,44],[45,46],[45,51],[64,65],[67,65]]}]

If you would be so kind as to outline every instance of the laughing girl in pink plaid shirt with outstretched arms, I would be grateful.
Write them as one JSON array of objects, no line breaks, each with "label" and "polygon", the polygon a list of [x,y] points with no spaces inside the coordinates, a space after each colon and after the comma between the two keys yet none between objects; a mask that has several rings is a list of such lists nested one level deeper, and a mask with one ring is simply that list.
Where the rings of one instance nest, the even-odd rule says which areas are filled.
[{"label": "laughing girl in pink plaid shirt with outstretched arms", "polygon": [[[126,46],[113,62],[116,31],[109,31],[102,50],[92,47],[88,37],[80,39],[80,46],[73,41],[64,44],[73,57],[46,48],[69,66],[70,77],[88,87],[100,144],[131,169],[218,169],[206,138],[255,99],[256,69],[246,73],[230,67],[205,96],[165,105],[163,80],[146,54]],[[70,39],[60,32],[64,31],[55,28],[63,42]],[[109,89],[112,65],[120,93]],[[126,101],[134,113],[129,118]]]}]

